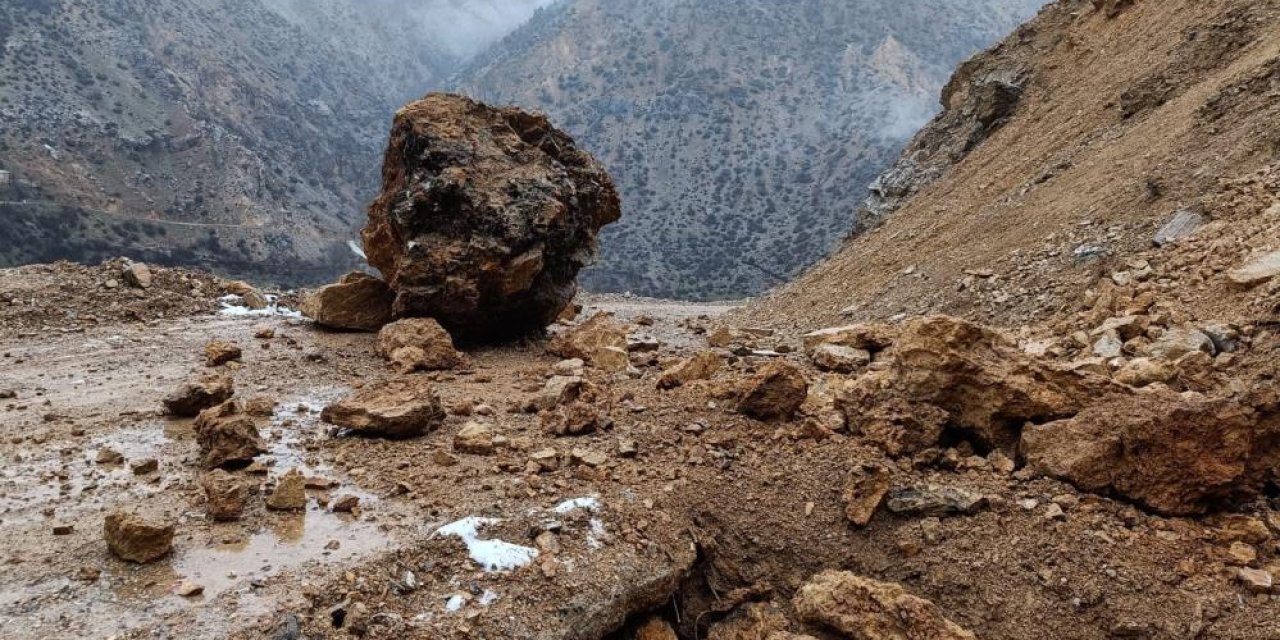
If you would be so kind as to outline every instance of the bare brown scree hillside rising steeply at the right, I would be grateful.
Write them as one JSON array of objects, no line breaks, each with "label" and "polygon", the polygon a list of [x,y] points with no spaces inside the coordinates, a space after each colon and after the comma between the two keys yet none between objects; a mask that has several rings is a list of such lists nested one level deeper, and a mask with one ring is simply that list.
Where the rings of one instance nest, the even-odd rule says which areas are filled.
[{"label": "bare brown scree hillside rising steeply at the right", "polygon": [[[1161,294],[1185,307],[1179,323],[1272,323],[1274,296],[1225,280],[1280,233],[1277,24],[1276,0],[1052,4],[959,69],[877,180],[874,230],[742,321],[946,312],[1019,328],[1119,287],[1148,298],[1120,310]],[[1157,243],[1175,228],[1197,233]]]}]

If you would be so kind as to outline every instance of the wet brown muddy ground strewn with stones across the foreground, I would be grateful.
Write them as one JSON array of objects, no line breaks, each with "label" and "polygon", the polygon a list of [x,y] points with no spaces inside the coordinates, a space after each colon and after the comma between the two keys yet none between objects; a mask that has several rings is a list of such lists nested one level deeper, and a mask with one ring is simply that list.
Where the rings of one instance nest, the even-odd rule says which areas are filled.
[{"label": "wet brown muddy ground strewn with stones across the foreground", "polygon": [[[33,282],[50,274],[0,282],[38,292]],[[559,360],[530,340],[422,374],[451,416],[411,440],[349,438],[319,420],[326,403],[390,375],[372,335],[278,315],[84,323],[26,310],[20,330],[0,334],[0,390],[15,394],[0,401],[0,635],[594,640],[628,639],[658,616],[695,639],[744,603],[786,611],[813,573],[844,568],[904,585],[979,637],[1280,637],[1277,596],[1238,582],[1224,535],[1234,516],[1158,517],[966,445],[948,452],[960,465],[887,461],[854,435],[741,416],[700,385],[659,392],[662,366],[704,346],[730,307],[586,303],[580,317],[614,311],[663,344],[637,378],[588,370],[607,390],[608,429],[558,438],[522,410]],[[255,338],[264,325],[273,338]],[[214,339],[244,347],[228,370],[237,397],[278,404],[260,424],[270,452],[237,474],[265,494],[283,471],[303,470],[305,513],[266,511],[259,495],[241,521],[206,518],[191,424],[164,417],[160,399],[209,371],[202,349]],[[799,347],[788,335],[760,342]],[[773,357],[805,364],[727,357],[721,378]],[[471,420],[504,444],[454,452]],[[545,448],[558,467],[531,470]],[[97,462],[102,449],[123,462]],[[146,458],[157,471],[134,474]],[[888,465],[896,485],[960,488],[988,506],[941,518],[881,509],[851,526],[841,488],[863,461]],[[357,513],[328,508],[348,494]],[[111,557],[102,520],[118,507],[174,524],[174,553],[146,566]],[[1272,507],[1260,499],[1243,513],[1277,525]],[[470,545],[447,535],[471,524]],[[1272,562],[1271,535],[1254,540],[1256,566]],[[202,593],[175,593],[192,585]]]}]

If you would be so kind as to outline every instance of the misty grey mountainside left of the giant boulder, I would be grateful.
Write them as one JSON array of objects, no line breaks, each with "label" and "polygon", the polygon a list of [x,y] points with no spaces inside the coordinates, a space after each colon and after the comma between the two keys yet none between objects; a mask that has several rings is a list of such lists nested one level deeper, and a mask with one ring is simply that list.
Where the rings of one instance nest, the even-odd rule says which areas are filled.
[{"label": "misty grey mountainside left of the giant boulder", "polygon": [[356,264],[390,115],[541,0],[0,4],[0,264]]}]

